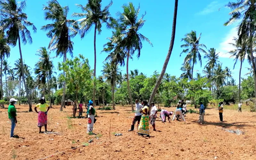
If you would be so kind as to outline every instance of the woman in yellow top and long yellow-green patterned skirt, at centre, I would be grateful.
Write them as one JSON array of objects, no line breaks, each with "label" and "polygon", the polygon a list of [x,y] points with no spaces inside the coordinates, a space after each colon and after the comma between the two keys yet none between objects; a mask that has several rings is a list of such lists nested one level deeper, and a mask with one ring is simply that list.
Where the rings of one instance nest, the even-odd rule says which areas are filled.
[{"label": "woman in yellow top and long yellow-green patterned skirt, at centre", "polygon": [[148,116],[147,104],[148,104],[147,100],[143,100],[143,108],[140,110],[140,113],[142,113],[142,115],[141,115],[140,124],[138,128],[138,134],[142,136],[146,135],[149,137],[149,124],[148,124],[149,116]]}]

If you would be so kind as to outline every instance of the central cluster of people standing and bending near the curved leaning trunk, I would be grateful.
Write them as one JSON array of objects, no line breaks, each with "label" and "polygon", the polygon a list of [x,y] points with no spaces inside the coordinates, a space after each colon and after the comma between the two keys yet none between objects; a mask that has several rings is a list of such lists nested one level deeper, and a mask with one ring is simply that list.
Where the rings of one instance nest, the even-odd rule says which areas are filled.
[{"label": "central cluster of people standing and bending near the curved leaning trunk", "polygon": [[[137,130],[139,135],[146,135],[149,136],[149,122],[153,126],[153,131],[156,131],[156,117],[157,117],[157,108],[155,106],[155,103],[152,102],[151,105],[151,110],[149,112],[149,105],[147,100],[143,100],[141,104],[139,103],[139,100],[135,100],[135,115],[132,120],[132,125],[131,129],[128,131],[133,131],[134,126],[137,122]],[[175,110],[175,114],[172,118],[172,120],[177,118],[181,118],[183,121],[186,121],[184,118],[184,114],[187,112],[187,107],[186,103],[184,103],[184,100],[180,100],[179,103],[177,104],[177,108]],[[161,120],[162,122],[166,122],[166,117],[168,118],[168,121],[170,122],[171,116],[173,115],[172,111],[167,111],[165,109],[161,110]],[[171,123],[171,122],[170,122]]]}]

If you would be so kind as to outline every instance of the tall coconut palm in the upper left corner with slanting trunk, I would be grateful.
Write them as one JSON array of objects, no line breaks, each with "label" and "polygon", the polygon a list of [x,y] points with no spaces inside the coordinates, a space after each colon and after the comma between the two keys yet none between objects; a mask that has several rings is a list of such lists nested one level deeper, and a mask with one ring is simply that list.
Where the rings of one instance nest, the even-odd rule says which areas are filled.
[{"label": "tall coconut palm in the upper left corner with slanting trunk", "polygon": [[[6,30],[7,42],[12,46],[19,43],[20,60],[21,60],[21,73],[23,82],[25,82],[23,59],[21,52],[21,42],[25,45],[27,42],[32,44],[32,37],[27,27],[32,27],[36,32],[36,27],[27,20],[28,16],[23,10],[26,8],[26,1],[17,2],[17,0],[3,0],[0,2],[0,14],[2,15],[1,26]],[[21,38],[21,39],[20,39]],[[28,89],[26,83],[25,90],[28,98],[29,111],[32,111],[32,105],[29,100]]]}]

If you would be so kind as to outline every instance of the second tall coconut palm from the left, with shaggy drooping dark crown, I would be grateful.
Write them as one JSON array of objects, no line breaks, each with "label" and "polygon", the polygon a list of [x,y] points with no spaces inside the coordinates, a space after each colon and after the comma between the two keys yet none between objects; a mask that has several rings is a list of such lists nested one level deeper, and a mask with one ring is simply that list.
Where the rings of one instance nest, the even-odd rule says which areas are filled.
[{"label": "second tall coconut palm from the left, with shaggy drooping dark crown", "polygon": [[[56,51],[56,56],[63,56],[63,62],[67,59],[67,53],[73,57],[73,42],[71,38],[76,35],[75,20],[67,19],[69,8],[62,7],[57,0],[50,0],[48,6],[44,5],[45,20],[52,20],[53,23],[41,27],[42,30],[48,31],[46,35],[51,38],[48,49]],[[63,71],[65,76],[65,72]],[[63,82],[63,97],[60,107],[65,108],[65,81]]]}]

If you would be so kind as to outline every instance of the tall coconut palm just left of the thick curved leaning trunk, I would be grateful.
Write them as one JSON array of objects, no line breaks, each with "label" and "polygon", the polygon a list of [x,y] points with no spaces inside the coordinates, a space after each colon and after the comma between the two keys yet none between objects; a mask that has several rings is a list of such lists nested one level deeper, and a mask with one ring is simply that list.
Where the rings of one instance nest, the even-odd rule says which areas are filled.
[{"label": "tall coconut palm just left of the thick curved leaning trunk", "polygon": [[132,111],[134,111],[133,103],[132,103],[132,94],[130,90],[129,83],[129,58],[132,57],[134,52],[137,53],[137,58],[140,58],[140,50],[142,48],[142,41],[148,42],[151,46],[152,43],[149,39],[142,34],[139,33],[139,30],[143,27],[146,20],[143,20],[145,14],[141,16],[139,19],[138,15],[140,13],[140,6],[135,9],[134,5],[130,2],[129,4],[124,4],[122,6],[123,13],[117,12],[118,22],[121,24],[122,34],[116,38],[113,43],[119,41],[120,37],[123,37],[120,44],[124,47],[125,53],[127,54],[126,58],[126,78],[127,78],[127,87],[129,91],[129,97],[131,101]]}]

